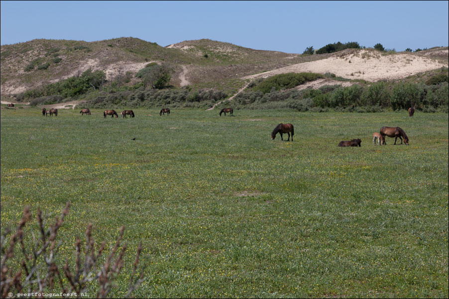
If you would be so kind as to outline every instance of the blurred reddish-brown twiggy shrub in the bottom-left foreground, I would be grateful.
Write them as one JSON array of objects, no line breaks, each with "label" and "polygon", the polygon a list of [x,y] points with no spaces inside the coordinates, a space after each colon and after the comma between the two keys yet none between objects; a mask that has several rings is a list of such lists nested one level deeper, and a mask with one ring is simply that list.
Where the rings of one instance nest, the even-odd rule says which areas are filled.
[{"label": "blurred reddish-brown twiggy shrub in the bottom-left foreground", "polygon": [[[26,230],[27,224],[30,227],[36,227],[36,225],[29,224],[31,212],[29,208],[25,208],[23,217],[15,231],[4,230],[1,235],[0,292],[2,298],[6,298],[8,293],[14,296],[18,293],[30,293],[31,290],[33,293],[48,293],[55,289],[59,289],[61,293],[65,294],[77,293],[80,295],[92,285],[91,281],[96,281],[98,284],[96,298],[108,297],[114,286],[114,280],[123,269],[127,249],[127,245],[121,243],[124,226],[120,228],[119,236],[111,252],[105,256],[106,243],[102,242],[96,248],[96,242],[92,237],[92,224],[89,223],[86,230],[86,243],[82,244],[81,239],[76,237],[75,261],[69,263],[71,257],[63,256],[62,251],[59,251],[62,242],[58,241],[59,228],[69,214],[69,207],[70,204],[67,203],[61,217],[56,218],[56,221],[48,227],[45,227],[46,221],[38,209],[35,232]],[[10,236],[8,237],[8,235]],[[15,249],[16,247],[19,249]],[[141,252],[142,244],[140,243],[129,275],[126,294],[122,294],[124,298],[129,297],[144,280],[143,269],[140,270],[140,275],[138,274]],[[7,298],[13,296],[8,295]]]}]

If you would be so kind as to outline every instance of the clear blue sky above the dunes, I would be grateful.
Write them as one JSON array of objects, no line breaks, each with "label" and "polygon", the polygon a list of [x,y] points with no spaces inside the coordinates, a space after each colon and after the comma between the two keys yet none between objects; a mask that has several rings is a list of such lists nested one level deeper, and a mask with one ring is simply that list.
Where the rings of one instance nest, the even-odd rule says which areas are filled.
[{"label": "clear blue sky above the dunes", "polygon": [[288,53],[356,41],[448,46],[448,1],[1,1],[0,44],[136,37],[161,46],[208,38]]}]

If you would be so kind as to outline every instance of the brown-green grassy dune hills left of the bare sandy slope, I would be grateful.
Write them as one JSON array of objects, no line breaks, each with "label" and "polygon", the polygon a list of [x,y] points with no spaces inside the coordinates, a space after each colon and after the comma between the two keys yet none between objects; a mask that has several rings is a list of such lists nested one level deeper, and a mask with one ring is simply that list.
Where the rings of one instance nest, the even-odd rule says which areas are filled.
[{"label": "brown-green grassy dune hills left of the bare sandy slope", "polygon": [[[105,71],[107,79],[112,79],[128,71],[136,73],[149,62],[165,62],[175,69],[172,84],[180,86],[180,75],[185,70],[182,66],[188,67],[188,82],[199,84],[311,60],[297,54],[252,50],[211,40],[186,41],[165,48],[137,38],[98,42],[32,40],[1,46],[1,93],[20,93],[89,68]],[[46,69],[39,68],[45,64]]]}]

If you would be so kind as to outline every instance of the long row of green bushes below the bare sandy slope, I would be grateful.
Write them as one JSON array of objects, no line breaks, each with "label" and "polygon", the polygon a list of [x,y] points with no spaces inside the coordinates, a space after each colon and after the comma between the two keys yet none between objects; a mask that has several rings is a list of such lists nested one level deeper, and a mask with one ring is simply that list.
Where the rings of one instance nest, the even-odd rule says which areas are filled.
[{"label": "long row of green bushes below the bare sandy slope", "polygon": [[319,89],[287,90],[269,93],[249,91],[234,98],[235,107],[250,109],[291,108],[298,111],[323,111],[333,108],[344,111],[376,112],[384,109],[416,107],[426,111],[448,111],[448,83],[425,85],[423,83],[384,82],[369,86],[325,85]]}]

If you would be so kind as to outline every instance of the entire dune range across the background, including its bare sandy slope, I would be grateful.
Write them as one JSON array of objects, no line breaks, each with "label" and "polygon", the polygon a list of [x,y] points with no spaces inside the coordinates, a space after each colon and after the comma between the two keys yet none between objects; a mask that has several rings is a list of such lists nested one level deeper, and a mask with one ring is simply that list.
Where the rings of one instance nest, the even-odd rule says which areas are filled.
[{"label": "entire dune range across the background, including its bare sandy slope", "polygon": [[[1,46],[1,95],[18,94],[88,69],[104,71],[107,80],[128,72],[132,77],[129,84],[134,84],[139,81],[134,75],[150,62],[170,65],[170,85],[174,87],[221,90],[230,97],[250,80],[285,73],[328,73],[369,82],[405,79],[447,67],[448,48],[415,53],[346,49],[333,54],[300,55],[209,39],[167,47],[131,37],[96,42],[40,39]],[[305,86],[319,88],[330,83],[336,82],[321,79]]]}]

